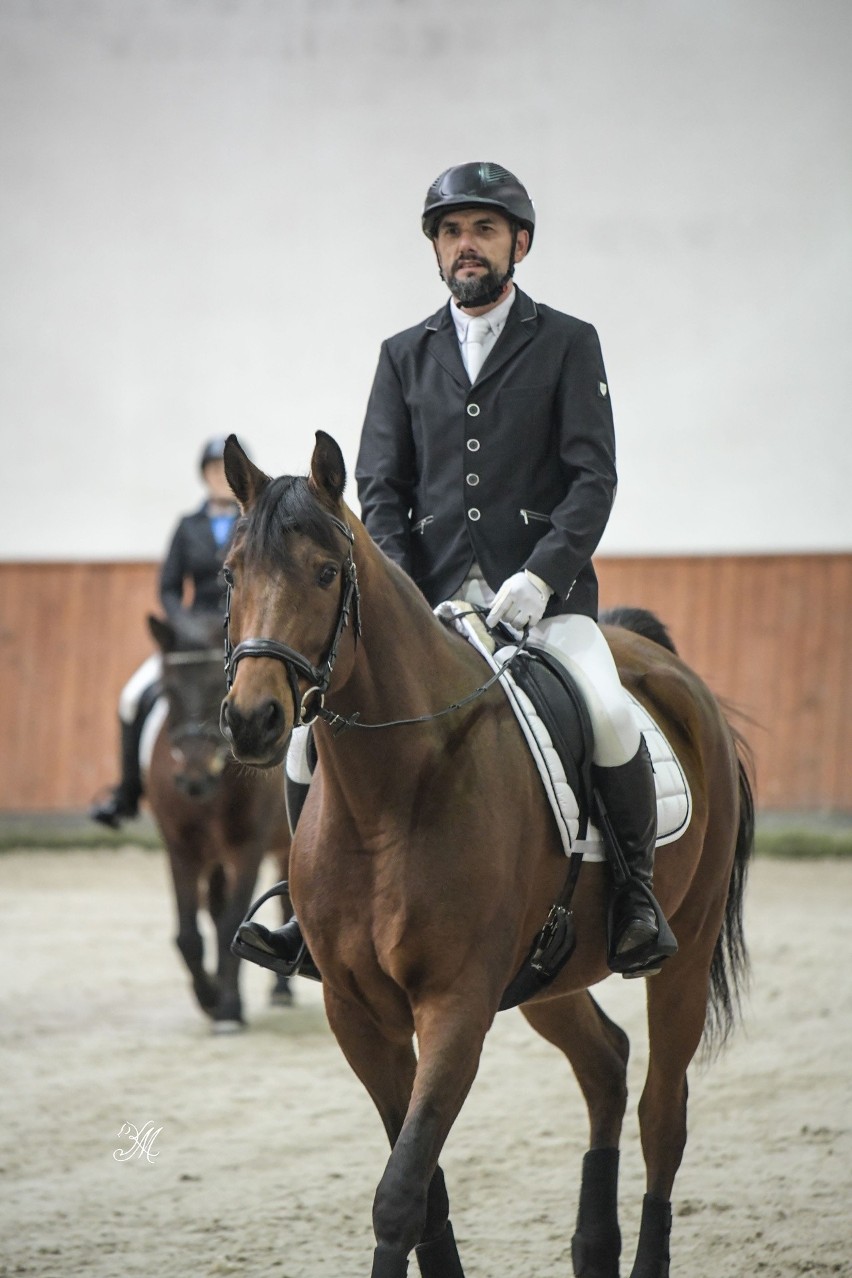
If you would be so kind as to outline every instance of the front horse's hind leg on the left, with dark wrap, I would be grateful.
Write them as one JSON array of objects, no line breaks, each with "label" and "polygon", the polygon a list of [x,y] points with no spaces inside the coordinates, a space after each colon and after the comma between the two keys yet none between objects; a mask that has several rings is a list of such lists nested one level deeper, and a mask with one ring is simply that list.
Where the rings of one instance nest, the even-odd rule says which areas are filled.
[{"label": "front horse's hind leg on the left, with dark wrap", "polygon": [[618,1140],[627,1105],[627,1035],[582,992],[521,1011],[568,1058],[589,1111],[577,1227],[571,1240],[581,1278],[618,1278]]}]

